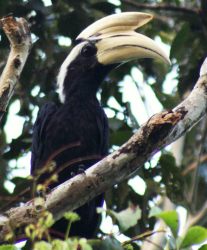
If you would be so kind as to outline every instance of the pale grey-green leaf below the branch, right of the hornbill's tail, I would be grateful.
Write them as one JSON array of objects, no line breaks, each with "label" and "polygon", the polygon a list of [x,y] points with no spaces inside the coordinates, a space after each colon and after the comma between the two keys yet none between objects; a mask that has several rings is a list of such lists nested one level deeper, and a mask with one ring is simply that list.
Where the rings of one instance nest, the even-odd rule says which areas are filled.
[{"label": "pale grey-green leaf below the branch, right of the hornbill's tail", "polygon": [[139,207],[128,207],[119,213],[114,211],[111,211],[111,213],[118,221],[121,231],[126,231],[130,227],[135,226],[141,218],[141,210]]}]

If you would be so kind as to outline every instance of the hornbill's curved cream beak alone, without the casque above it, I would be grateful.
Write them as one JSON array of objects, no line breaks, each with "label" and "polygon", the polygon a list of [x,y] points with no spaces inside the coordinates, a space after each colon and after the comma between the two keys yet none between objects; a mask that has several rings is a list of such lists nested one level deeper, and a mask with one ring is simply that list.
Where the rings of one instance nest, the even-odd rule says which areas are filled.
[{"label": "hornbill's curved cream beak alone, without the casque above it", "polygon": [[114,64],[139,58],[154,58],[170,64],[165,51],[152,39],[136,32],[114,33],[96,43],[101,64]]}]

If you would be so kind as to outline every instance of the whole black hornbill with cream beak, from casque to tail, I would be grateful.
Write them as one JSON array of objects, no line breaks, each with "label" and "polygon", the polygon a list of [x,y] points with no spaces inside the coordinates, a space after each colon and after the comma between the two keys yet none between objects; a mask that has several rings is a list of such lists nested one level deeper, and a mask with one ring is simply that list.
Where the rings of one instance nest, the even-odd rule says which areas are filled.
[{"label": "whole black hornbill with cream beak, from casque to tail", "polygon": [[[77,174],[80,165],[86,169],[108,153],[107,117],[96,98],[104,77],[132,59],[151,57],[169,63],[153,40],[135,32],[151,19],[152,15],[139,12],[114,14],[93,23],[77,37],[77,45],[57,77],[62,104],[45,104],[34,125],[31,174],[49,160],[56,162],[55,170],[61,168],[58,181],[50,188]],[[45,178],[43,174],[39,182]],[[102,204],[100,195],[77,209],[81,221],[72,226],[70,235],[92,237],[98,225],[96,208]],[[54,229],[64,232],[66,225],[61,219]]]}]

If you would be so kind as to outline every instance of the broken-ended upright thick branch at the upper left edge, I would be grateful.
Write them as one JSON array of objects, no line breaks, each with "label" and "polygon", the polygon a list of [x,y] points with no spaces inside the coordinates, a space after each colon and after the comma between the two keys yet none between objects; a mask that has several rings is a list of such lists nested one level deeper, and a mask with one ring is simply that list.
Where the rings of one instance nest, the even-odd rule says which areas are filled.
[{"label": "broken-ended upright thick branch at the upper left edge", "polygon": [[28,23],[23,18],[16,21],[12,16],[7,16],[0,19],[0,26],[3,28],[11,45],[7,64],[0,78],[1,120],[29,54],[31,36]]}]

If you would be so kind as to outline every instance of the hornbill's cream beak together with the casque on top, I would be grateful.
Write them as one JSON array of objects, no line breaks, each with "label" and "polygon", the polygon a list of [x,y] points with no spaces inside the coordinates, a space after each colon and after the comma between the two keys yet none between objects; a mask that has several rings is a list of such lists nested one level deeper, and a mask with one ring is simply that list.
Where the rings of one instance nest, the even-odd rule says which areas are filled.
[{"label": "hornbill's cream beak together with the casque on top", "polygon": [[95,42],[97,59],[104,65],[138,58],[155,58],[170,64],[169,57],[155,41],[134,31],[152,18],[142,12],[114,14],[91,24],[77,39]]}]

